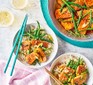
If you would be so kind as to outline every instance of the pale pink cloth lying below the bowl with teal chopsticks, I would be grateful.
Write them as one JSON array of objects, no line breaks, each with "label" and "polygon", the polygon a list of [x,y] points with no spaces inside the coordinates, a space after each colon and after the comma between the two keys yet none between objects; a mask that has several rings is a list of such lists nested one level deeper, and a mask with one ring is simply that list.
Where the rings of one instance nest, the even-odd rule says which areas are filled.
[{"label": "pale pink cloth lying below the bowl with teal chopsticks", "polygon": [[[44,68],[33,70],[17,64],[13,76],[10,77],[11,66],[6,74],[3,73],[5,64],[5,61],[0,61],[0,85],[51,85]],[[49,66],[47,68],[49,69]]]}]

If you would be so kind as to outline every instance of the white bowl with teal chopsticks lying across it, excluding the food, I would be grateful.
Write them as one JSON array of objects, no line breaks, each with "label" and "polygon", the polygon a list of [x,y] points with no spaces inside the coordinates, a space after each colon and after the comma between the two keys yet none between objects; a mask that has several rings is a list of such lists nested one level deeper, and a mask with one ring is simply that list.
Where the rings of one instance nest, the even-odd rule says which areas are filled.
[{"label": "white bowl with teal chopsticks lying across it, excluding the food", "polygon": [[[37,24],[36,24],[36,23],[28,24],[27,27],[26,27],[26,30],[29,30],[29,26],[30,26],[30,25],[33,25],[33,26],[37,27]],[[52,38],[53,38],[53,40],[54,40],[53,51],[52,51],[51,55],[48,57],[49,59],[48,59],[46,62],[41,63],[41,65],[38,65],[38,64],[36,64],[36,65],[29,65],[29,64],[27,64],[25,61],[23,61],[23,60],[21,59],[21,57],[18,57],[18,60],[19,60],[20,62],[22,62],[22,63],[23,63],[24,65],[26,65],[26,66],[29,66],[30,68],[38,69],[38,68],[41,68],[41,67],[43,67],[43,66],[46,66],[47,64],[49,64],[49,63],[55,58],[55,56],[56,56],[56,54],[57,54],[58,41],[57,41],[57,37],[56,37],[55,33],[54,33],[47,25],[44,25],[44,26],[41,25],[41,27],[42,27],[43,29],[45,29],[46,32],[52,36]],[[17,32],[17,33],[18,33],[18,32]],[[17,35],[17,34],[16,34],[16,35]],[[15,35],[15,38],[16,38],[16,35]],[[14,38],[14,41],[15,41],[15,38]],[[13,41],[13,43],[14,43],[14,41]],[[15,53],[15,52],[14,52],[14,53]]]}]

